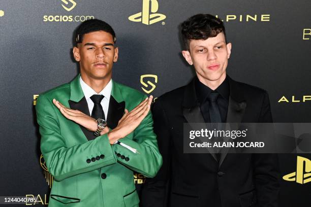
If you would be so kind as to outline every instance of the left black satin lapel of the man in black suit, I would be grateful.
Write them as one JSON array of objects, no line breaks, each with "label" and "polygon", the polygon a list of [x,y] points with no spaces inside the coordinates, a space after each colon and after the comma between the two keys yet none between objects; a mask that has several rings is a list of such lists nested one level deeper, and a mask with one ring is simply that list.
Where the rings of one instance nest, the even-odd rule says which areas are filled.
[{"label": "left black satin lapel of the man in black suit", "polygon": [[[188,85],[185,86],[182,107],[182,114],[184,118],[188,121],[188,123],[205,123],[196,95],[195,78]],[[209,148],[207,149],[210,152]],[[210,154],[214,158],[214,160],[217,161],[215,154],[211,152]]]}]

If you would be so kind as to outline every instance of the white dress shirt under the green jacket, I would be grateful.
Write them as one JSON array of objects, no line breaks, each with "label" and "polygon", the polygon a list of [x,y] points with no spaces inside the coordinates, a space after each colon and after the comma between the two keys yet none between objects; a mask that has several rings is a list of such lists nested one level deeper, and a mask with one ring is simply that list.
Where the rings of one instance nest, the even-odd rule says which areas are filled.
[{"label": "white dress shirt under the green jacket", "polygon": [[112,90],[112,80],[110,79],[109,83],[106,85],[106,87],[99,93],[95,92],[95,90],[93,90],[89,85],[87,85],[81,78],[80,76],[80,85],[82,88],[82,91],[84,93],[86,102],[87,102],[87,106],[88,106],[88,111],[89,114],[92,114],[92,110],[94,107],[94,102],[90,99],[90,97],[94,94],[101,94],[103,96],[105,96],[102,101],[101,101],[101,105],[103,107],[103,111],[105,113],[105,118],[107,120],[108,118],[108,108],[109,108],[109,100],[110,100],[110,95],[111,95],[111,90]]}]

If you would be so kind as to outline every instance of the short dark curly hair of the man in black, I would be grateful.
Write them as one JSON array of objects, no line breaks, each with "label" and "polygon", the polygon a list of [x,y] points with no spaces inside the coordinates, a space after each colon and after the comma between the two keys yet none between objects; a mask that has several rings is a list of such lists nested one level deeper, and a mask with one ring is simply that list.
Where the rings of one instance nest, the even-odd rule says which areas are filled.
[{"label": "short dark curly hair of the man in black", "polygon": [[189,50],[191,40],[206,40],[226,31],[221,19],[210,14],[197,14],[181,23],[181,35],[184,47]]}]

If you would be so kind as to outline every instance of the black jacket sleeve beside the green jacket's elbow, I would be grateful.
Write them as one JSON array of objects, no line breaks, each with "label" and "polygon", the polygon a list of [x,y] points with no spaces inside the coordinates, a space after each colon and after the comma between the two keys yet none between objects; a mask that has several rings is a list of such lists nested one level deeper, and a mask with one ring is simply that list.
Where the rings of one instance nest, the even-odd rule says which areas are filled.
[{"label": "black jacket sleeve beside the green jacket's elbow", "polygon": [[157,100],[152,108],[154,120],[154,132],[157,134],[160,153],[163,157],[163,165],[157,176],[146,179],[142,188],[141,203],[144,207],[168,206],[168,189],[170,188],[170,127],[165,111],[161,107],[161,100]]}]

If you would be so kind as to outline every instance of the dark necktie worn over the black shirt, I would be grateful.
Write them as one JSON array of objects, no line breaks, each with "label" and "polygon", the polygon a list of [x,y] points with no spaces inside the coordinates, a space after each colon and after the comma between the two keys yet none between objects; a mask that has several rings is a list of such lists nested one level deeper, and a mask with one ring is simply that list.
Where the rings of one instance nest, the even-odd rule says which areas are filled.
[{"label": "dark necktie worn over the black shirt", "polygon": [[[207,97],[209,101],[209,118],[211,123],[222,123],[222,117],[220,115],[219,107],[217,105],[217,98],[219,96],[219,93],[217,92],[212,92],[209,94]],[[211,127],[214,128],[214,126],[211,124]],[[216,130],[219,130],[220,128],[217,127],[216,124]],[[217,139],[217,141],[222,142],[223,139],[222,137],[216,137],[214,139]],[[221,159],[221,154],[220,153],[215,153],[215,156],[218,161]]]}]

